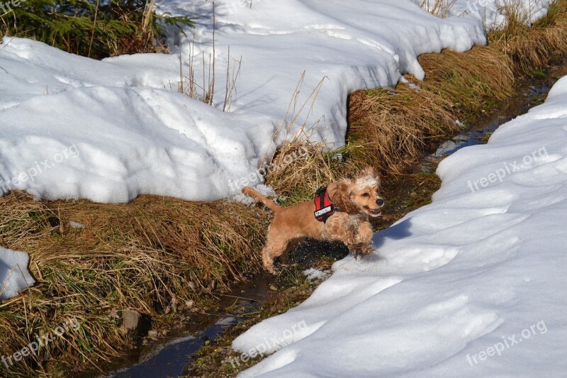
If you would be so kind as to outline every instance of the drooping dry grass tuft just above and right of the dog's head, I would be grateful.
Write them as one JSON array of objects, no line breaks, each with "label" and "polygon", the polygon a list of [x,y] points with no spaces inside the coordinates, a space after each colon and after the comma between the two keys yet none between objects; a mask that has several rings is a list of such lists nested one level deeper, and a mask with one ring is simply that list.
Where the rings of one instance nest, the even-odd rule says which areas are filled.
[{"label": "drooping dry grass tuft just above and right of the dog's head", "polygon": [[422,154],[426,143],[456,129],[450,104],[441,96],[408,84],[395,89],[357,91],[350,96],[349,143],[352,154],[386,172]]}]

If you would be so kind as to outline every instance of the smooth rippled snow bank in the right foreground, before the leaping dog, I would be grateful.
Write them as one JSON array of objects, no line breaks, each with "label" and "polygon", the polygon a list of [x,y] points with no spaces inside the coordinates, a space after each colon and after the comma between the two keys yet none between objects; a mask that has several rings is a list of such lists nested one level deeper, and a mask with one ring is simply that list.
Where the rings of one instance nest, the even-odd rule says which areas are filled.
[{"label": "smooth rippled snow bank in the right foreground, before the leaping dog", "polygon": [[303,304],[234,341],[247,352],[306,324],[240,377],[564,374],[567,77],[437,173],[433,203],[376,234],[369,259],[336,262]]}]

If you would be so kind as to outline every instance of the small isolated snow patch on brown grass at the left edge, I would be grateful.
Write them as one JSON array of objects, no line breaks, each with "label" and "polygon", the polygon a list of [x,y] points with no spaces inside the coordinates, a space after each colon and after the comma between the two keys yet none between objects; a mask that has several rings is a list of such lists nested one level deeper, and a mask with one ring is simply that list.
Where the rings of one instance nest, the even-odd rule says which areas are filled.
[{"label": "small isolated snow patch on brown grass at the left edge", "polygon": [[28,272],[26,252],[0,247],[0,301],[18,295],[35,281]]}]

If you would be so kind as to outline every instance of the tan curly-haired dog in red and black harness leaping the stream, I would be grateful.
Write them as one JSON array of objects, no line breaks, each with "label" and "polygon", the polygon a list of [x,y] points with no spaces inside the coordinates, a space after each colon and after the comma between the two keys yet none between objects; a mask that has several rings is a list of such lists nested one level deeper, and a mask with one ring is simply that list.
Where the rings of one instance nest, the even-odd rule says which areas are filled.
[{"label": "tan curly-haired dog in red and black harness leaping the stream", "polygon": [[275,214],[262,250],[264,268],[275,273],[274,259],[305,238],[339,240],[355,256],[368,255],[373,235],[369,216],[380,216],[384,205],[379,189],[380,179],[372,167],[366,167],[354,179],[320,188],[315,200],[289,207],[275,204],[251,187],[242,188],[243,194],[256,197]]}]

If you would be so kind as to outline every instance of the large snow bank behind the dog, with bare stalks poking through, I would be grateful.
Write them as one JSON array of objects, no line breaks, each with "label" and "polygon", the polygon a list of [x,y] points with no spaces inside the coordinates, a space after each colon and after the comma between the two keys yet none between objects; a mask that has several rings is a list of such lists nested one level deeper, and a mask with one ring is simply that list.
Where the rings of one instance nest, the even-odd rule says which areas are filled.
[{"label": "large snow bank behind the dog, with bare stalks poking through", "polygon": [[[198,84],[203,56],[208,76],[212,52],[211,6],[161,5],[202,17],[187,38],[176,38],[186,76],[194,55]],[[435,18],[409,0],[258,0],[252,8],[247,1],[218,0],[216,25],[214,102],[220,108],[226,67],[242,57],[230,113],[177,93],[178,55],[96,61],[4,38],[0,191],[106,203],[139,194],[226,198],[258,184],[266,152],[301,126],[313,141],[342,145],[350,92],[395,84],[405,72],[423,77],[417,63],[423,52],[485,43],[474,18]]]}]

